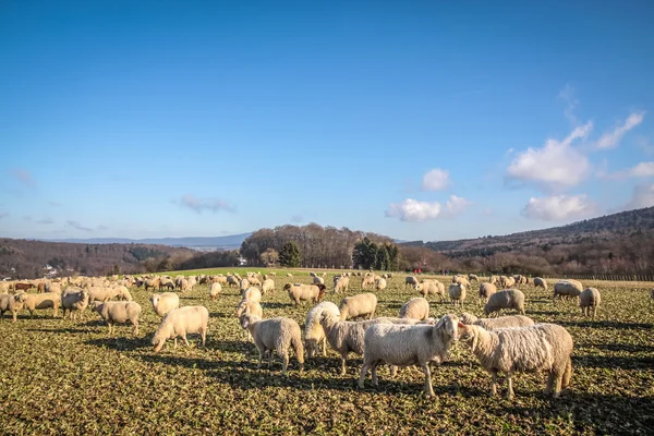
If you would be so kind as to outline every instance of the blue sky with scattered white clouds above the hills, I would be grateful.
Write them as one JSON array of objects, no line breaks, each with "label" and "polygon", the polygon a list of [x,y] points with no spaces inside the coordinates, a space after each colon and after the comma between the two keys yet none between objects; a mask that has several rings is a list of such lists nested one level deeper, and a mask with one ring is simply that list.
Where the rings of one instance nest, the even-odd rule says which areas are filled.
[{"label": "blue sky with scattered white clouds above the hills", "polygon": [[654,3],[0,3],[0,237],[402,240],[654,206]]}]

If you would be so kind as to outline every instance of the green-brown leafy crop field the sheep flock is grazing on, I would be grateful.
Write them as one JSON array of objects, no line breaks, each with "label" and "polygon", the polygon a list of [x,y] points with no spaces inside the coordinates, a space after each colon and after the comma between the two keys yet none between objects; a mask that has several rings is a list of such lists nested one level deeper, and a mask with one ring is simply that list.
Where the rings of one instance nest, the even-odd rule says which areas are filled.
[{"label": "green-brown leafy crop field the sheep flock is grazing on", "polygon": [[[233,270],[233,269],[232,269]],[[205,271],[206,272],[206,271]],[[186,272],[187,274],[187,272]],[[306,271],[278,275],[274,295],[263,299],[264,316],[289,316],[301,326],[311,307],[295,308],[281,290],[284,282],[310,282]],[[331,282],[330,272],[326,282]],[[447,280],[443,278],[443,280]],[[378,293],[377,315],[397,316],[410,298],[404,275]],[[550,280],[552,282],[552,280]],[[353,279],[349,294],[360,292]],[[379,388],[356,387],[361,358],[351,355],[348,374],[339,359],[308,360],[302,376],[291,358],[289,377],[256,368],[257,351],[234,317],[235,288],[208,299],[207,286],[181,294],[182,305],[203,304],[210,312],[206,349],[172,348],[155,354],[150,338],[159,324],[148,298],[133,290],[143,306],[141,332],[119,326],[114,337],[90,312],[81,322],[52,318],[51,311],[27,312],[0,323],[0,428],[2,434],[652,434],[654,432],[654,304],[652,284],[586,282],[602,292],[595,322],[572,302],[553,305],[550,292],[531,286],[526,315],[566,327],[574,339],[572,385],[561,398],[544,395],[545,375],[519,374],[516,398],[491,398],[491,377],[467,347],[457,343],[450,360],[434,368],[436,398],[422,395],[419,368],[389,379],[379,372]],[[473,286],[474,288],[474,286]],[[481,315],[474,291],[465,310]],[[338,304],[331,292],[327,301]],[[431,301],[433,316],[451,313],[450,304]],[[461,311],[456,313],[460,314]]]}]

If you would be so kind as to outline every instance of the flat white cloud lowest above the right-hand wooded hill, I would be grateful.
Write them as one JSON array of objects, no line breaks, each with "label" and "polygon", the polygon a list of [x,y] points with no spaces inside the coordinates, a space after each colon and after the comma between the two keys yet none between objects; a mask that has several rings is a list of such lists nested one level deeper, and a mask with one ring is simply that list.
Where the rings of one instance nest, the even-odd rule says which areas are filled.
[{"label": "flat white cloud lowest above the right-hand wooded hill", "polygon": [[595,206],[586,195],[552,195],[548,197],[531,197],[522,215],[530,219],[559,221],[581,218],[592,214]]}]

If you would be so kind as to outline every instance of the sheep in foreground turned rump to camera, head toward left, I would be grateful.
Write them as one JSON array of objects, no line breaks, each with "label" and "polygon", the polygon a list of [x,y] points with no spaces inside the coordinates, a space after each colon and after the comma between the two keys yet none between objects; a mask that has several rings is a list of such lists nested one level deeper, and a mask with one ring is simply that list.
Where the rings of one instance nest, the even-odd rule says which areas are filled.
[{"label": "sheep in foreground turned rump to camera, head toward left", "polygon": [[295,351],[295,358],[300,364],[300,374],[304,371],[304,347],[302,346],[302,332],[294,319],[277,317],[262,319],[257,315],[244,314],[241,316],[241,327],[247,329],[256,349],[259,352],[257,368],[262,367],[262,361],[266,351],[268,352],[268,368],[272,362],[272,350],[281,358],[281,375],[287,375],[289,366],[289,349]]}]

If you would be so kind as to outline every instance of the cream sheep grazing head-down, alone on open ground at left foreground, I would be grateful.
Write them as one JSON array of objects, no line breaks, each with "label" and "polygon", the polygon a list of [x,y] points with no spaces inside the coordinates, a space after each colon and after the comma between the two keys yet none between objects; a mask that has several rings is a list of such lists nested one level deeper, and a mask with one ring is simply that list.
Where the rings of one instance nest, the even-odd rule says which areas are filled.
[{"label": "cream sheep grazing head-down, alone on open ground at left foreground", "polygon": [[155,353],[161,351],[167,339],[174,341],[177,348],[178,336],[182,338],[184,344],[189,347],[187,334],[199,334],[202,346],[204,347],[207,338],[207,324],[209,322],[209,311],[205,306],[185,306],[173,308],[168,312],[155,336],[152,344],[155,347]]}]

